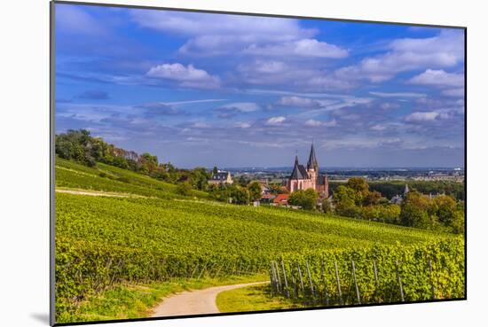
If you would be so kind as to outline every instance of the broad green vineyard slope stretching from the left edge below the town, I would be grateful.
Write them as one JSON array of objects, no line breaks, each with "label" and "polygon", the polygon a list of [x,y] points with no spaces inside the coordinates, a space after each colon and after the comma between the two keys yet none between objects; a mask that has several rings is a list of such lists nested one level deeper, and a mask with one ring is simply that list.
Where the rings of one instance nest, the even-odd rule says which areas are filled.
[{"label": "broad green vineyard slope stretching from the left edge below the town", "polygon": [[267,274],[277,258],[300,261],[324,251],[364,253],[377,246],[388,252],[459,239],[333,215],[217,203],[201,191],[184,197],[175,185],[103,164],[91,168],[57,159],[56,188],[138,196],[57,192],[59,322],[90,320],[73,317],[80,304],[122,284],[253,276]]}]

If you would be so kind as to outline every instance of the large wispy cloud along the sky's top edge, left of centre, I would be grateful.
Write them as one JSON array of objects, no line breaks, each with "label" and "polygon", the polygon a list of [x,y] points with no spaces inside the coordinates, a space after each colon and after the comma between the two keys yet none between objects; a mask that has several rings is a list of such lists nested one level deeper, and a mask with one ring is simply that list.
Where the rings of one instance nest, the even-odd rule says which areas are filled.
[{"label": "large wispy cloud along the sky's top edge, left of centre", "polygon": [[180,53],[216,56],[243,51],[251,44],[286,43],[318,33],[298,19],[195,12],[133,11],[141,27],[190,37]]}]

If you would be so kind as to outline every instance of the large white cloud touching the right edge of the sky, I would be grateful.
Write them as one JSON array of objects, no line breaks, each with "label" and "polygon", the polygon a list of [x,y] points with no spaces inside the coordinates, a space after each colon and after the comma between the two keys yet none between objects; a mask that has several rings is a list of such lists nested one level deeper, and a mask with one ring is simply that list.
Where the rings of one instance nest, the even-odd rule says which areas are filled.
[{"label": "large white cloud touching the right edge of the sky", "polygon": [[421,68],[455,66],[464,60],[464,35],[460,31],[443,31],[429,38],[397,39],[388,52],[364,58],[358,65],[338,69],[342,79],[368,79],[384,82],[396,74]]}]

